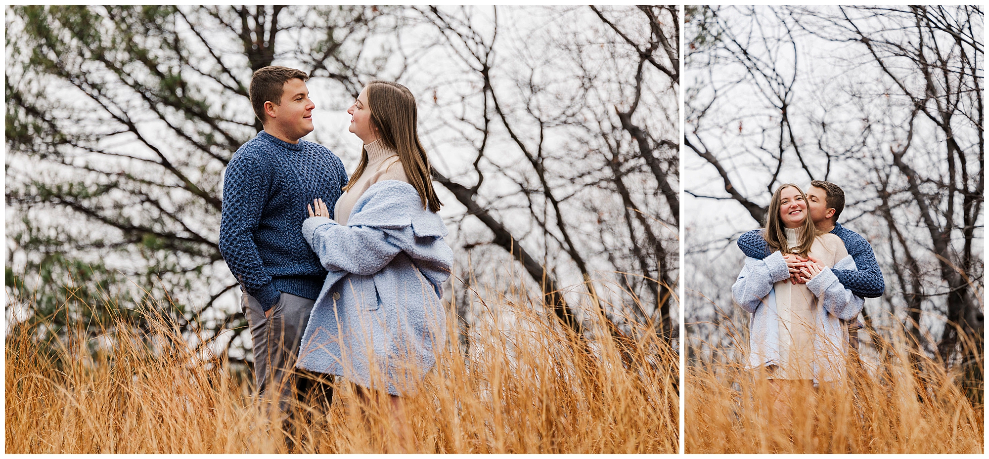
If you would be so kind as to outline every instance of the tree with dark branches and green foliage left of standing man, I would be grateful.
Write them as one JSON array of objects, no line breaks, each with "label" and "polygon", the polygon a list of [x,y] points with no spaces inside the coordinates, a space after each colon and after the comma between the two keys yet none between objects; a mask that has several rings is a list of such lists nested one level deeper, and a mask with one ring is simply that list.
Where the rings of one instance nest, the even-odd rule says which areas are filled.
[{"label": "tree with dark branches and green foliage left of standing man", "polygon": [[[126,277],[145,289],[131,289],[135,303],[168,298],[175,309],[166,311],[190,333],[204,312],[222,320],[204,338],[245,323],[238,312],[209,312],[237,285],[217,229],[221,172],[261,128],[248,102],[250,76],[298,57],[291,41],[306,29],[333,41],[307,49],[314,67],[358,84],[358,61],[346,53],[362,46],[380,14],[10,7],[6,198],[23,219],[8,221],[8,266],[17,258],[29,274],[8,271],[14,296],[33,298],[42,318],[59,311],[63,285],[75,284],[75,295],[98,308],[107,296],[122,300]],[[45,275],[36,282],[30,273]]]}]

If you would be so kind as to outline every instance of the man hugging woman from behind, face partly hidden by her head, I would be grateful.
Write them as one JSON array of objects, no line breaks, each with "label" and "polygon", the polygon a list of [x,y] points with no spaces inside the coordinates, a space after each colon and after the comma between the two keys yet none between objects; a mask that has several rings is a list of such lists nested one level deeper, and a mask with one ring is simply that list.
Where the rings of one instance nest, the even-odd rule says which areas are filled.
[{"label": "man hugging woman from behind, face partly hidden by her head", "polygon": [[[832,272],[838,280],[855,295],[862,298],[877,298],[882,296],[886,290],[886,284],[882,280],[882,271],[879,270],[879,263],[875,261],[875,254],[872,246],[857,232],[842,227],[838,223],[838,217],[845,209],[845,192],[841,187],[824,180],[814,180],[810,182],[810,189],[807,190],[807,209],[810,218],[814,221],[817,230],[831,232],[845,241],[845,248],[852,255],[857,271],[834,269]],[[751,230],[739,237],[739,248],[746,255],[753,258],[763,259],[770,255],[766,250],[763,230]],[[800,260],[787,260],[790,272],[793,273],[794,282],[807,282],[807,278],[800,274],[802,263]],[[806,261],[806,260],[804,260]]]}]

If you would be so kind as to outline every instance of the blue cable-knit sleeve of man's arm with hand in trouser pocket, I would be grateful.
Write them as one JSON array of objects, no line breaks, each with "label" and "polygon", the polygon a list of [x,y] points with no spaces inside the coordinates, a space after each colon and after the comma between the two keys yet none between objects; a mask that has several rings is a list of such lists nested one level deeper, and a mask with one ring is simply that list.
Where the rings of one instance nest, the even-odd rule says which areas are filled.
[{"label": "blue cable-knit sleeve of man's arm with hand in trouser pocket", "polygon": [[253,237],[268,200],[270,180],[267,167],[256,159],[239,155],[230,160],[224,176],[220,221],[220,253],[226,266],[264,311],[278,303],[281,296],[264,268]]}]

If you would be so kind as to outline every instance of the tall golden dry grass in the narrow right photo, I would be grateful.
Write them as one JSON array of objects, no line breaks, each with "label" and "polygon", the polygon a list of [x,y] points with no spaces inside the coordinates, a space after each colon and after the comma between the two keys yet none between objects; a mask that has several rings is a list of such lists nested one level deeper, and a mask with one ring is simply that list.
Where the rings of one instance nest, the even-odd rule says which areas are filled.
[{"label": "tall golden dry grass in the narrow right photo", "polygon": [[770,409],[764,373],[687,365],[685,452],[981,453],[983,407],[965,398],[960,369],[911,349],[898,330],[870,334],[874,347],[851,354],[844,381],[793,389],[789,419]]}]

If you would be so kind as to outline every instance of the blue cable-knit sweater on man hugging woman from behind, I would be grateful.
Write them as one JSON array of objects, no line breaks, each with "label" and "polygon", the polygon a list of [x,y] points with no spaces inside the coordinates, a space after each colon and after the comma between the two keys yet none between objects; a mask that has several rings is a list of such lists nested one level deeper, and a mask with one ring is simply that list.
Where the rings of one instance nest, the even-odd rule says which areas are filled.
[{"label": "blue cable-knit sweater on man hugging woman from behind", "polygon": [[[864,237],[857,232],[835,224],[835,229],[831,230],[845,241],[845,249],[855,260],[857,271],[831,268],[839,282],[845,288],[851,290],[855,295],[862,298],[878,298],[886,290],[886,283],[882,280],[882,271],[879,270],[879,263],[875,261],[875,253],[872,246]],[[739,248],[747,256],[764,259],[769,256],[768,247],[763,237],[763,230],[751,230],[739,236]]]}]

